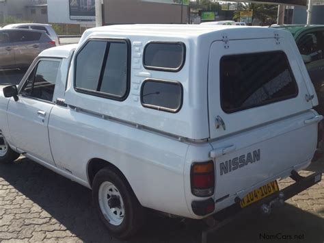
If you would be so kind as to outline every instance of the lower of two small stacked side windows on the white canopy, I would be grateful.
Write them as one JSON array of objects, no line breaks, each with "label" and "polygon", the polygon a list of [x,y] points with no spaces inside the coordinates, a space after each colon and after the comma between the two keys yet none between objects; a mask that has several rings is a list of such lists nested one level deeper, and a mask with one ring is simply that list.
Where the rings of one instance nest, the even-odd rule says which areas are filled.
[{"label": "lower of two small stacked side windows on the white canopy", "polygon": [[144,107],[178,112],[183,100],[183,88],[174,81],[146,80],[141,88],[141,103]]}]

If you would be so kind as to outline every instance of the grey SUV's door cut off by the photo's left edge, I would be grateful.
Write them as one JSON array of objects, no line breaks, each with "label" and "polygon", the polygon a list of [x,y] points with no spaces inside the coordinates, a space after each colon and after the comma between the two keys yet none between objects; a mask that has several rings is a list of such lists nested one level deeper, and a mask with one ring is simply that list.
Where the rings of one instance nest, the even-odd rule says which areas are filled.
[{"label": "grey SUV's door cut off by the photo's left edge", "polygon": [[10,42],[9,34],[0,31],[0,69],[12,68],[14,66],[14,49]]}]

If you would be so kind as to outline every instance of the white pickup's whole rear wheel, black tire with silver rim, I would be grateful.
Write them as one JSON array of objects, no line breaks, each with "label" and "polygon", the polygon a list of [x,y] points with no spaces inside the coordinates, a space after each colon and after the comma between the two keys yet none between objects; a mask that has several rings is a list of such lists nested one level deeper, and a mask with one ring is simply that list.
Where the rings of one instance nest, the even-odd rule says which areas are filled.
[{"label": "white pickup's whole rear wheel, black tire with silver rim", "polygon": [[92,198],[100,220],[116,238],[130,238],[144,224],[145,209],[120,172],[99,170],[94,177]]}]

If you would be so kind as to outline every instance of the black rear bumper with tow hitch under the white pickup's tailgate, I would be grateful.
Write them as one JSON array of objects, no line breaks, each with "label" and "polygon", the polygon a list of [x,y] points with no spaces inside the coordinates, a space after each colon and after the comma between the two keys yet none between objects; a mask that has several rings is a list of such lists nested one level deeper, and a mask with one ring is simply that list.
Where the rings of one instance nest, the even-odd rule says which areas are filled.
[{"label": "black rear bumper with tow hitch under the white pickup's tailgate", "polygon": [[[322,179],[321,172],[316,172],[312,175],[309,175],[308,177],[301,177],[298,175],[295,170],[291,172],[291,178],[295,180],[296,182],[293,183],[291,186],[288,186],[279,192],[275,192],[274,194],[271,194],[270,196],[267,196],[265,199],[262,199],[252,205],[249,205],[243,209],[240,207],[240,199],[237,199],[237,203],[221,210],[220,212],[217,212],[217,214],[214,214],[210,217],[217,220],[217,225],[215,227],[211,227],[209,229],[206,229],[203,233],[203,238],[206,238],[206,235],[208,233],[211,233],[213,231],[217,231],[224,225],[228,224],[228,222],[231,222],[232,220],[236,220],[240,218],[243,214],[251,214],[256,211],[264,212],[264,209],[270,209],[271,210],[274,207],[280,206],[284,203],[284,201],[290,199],[291,197],[299,194],[300,192],[303,192],[303,190],[306,190],[310,188],[311,186],[314,186],[316,183],[319,183]],[[267,211],[267,210],[266,210]],[[264,212],[267,213],[267,212]]]}]

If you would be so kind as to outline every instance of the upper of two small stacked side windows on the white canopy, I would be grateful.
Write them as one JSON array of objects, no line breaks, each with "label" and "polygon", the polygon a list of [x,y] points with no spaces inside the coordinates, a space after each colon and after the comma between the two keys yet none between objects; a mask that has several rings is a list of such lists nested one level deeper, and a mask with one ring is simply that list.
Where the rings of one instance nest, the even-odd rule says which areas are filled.
[{"label": "upper of two small stacked side windows on the white canopy", "polygon": [[144,50],[144,66],[147,69],[180,71],[185,62],[185,44],[152,42]]}]

